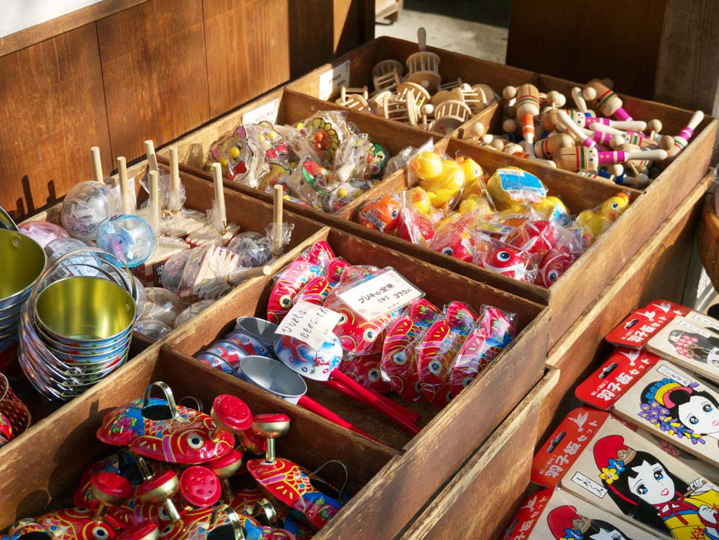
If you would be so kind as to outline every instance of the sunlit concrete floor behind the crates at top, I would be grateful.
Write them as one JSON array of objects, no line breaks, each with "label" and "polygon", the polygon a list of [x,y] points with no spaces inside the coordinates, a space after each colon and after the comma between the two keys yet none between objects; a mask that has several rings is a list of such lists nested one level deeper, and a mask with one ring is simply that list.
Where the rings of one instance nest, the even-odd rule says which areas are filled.
[{"label": "sunlit concrete floor behind the crates at top", "polygon": [[427,30],[427,45],[504,63],[510,0],[405,0],[398,22],[375,25],[375,35],[416,41]]}]

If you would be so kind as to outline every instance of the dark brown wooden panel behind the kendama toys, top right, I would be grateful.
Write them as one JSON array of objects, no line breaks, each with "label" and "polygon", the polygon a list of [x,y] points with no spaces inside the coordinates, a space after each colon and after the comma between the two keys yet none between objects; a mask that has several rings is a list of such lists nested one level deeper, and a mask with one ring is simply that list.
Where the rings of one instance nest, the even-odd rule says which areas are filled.
[{"label": "dark brown wooden panel behind the kendama toys, top right", "polygon": [[[514,0],[507,63],[582,83],[608,77],[618,91],[651,98],[666,5],[667,0],[546,0],[538,10],[532,0]],[[597,46],[582,46],[592,29]]]}]

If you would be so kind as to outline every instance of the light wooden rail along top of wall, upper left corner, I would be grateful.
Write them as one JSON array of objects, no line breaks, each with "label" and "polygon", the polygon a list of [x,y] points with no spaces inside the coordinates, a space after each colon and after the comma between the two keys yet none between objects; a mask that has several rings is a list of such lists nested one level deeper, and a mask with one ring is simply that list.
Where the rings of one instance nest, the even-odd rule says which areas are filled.
[{"label": "light wooden rail along top of wall, upper left corner", "polygon": [[40,43],[41,41],[50,40],[52,37],[65,34],[65,32],[70,32],[70,30],[85,26],[103,17],[109,17],[146,1],[148,0],[101,1],[0,37],[0,56],[9,55],[11,52],[35,45],[35,43]]}]

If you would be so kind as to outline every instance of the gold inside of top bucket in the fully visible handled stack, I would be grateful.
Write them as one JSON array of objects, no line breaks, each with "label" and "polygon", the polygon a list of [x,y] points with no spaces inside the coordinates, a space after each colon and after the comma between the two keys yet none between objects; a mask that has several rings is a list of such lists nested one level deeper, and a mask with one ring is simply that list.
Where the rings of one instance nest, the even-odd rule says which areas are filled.
[{"label": "gold inside of top bucket in the fully visible handled stack", "polygon": [[37,296],[37,324],[62,343],[101,345],[130,331],[132,296],[109,280],[79,276],[56,281]]}]

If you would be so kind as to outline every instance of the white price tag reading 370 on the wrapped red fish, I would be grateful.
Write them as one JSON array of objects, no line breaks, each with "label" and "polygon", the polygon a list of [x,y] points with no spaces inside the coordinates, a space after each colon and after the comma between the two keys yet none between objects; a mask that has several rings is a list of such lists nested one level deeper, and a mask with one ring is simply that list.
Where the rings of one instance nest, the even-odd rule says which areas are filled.
[{"label": "white price tag reading 370 on the wrapped red fish", "polygon": [[372,321],[395,309],[403,308],[424,293],[396,270],[385,269],[354,287],[337,293],[362,319]]}]

